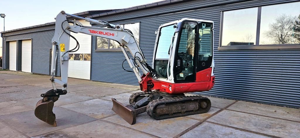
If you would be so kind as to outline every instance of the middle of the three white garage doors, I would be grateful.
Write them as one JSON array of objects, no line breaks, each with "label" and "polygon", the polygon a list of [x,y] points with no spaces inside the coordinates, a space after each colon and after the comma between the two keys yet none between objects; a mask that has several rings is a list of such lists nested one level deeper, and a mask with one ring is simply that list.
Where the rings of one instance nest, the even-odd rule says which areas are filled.
[{"label": "middle of the three white garage doors", "polygon": [[31,73],[31,40],[22,40],[22,72]]}]

